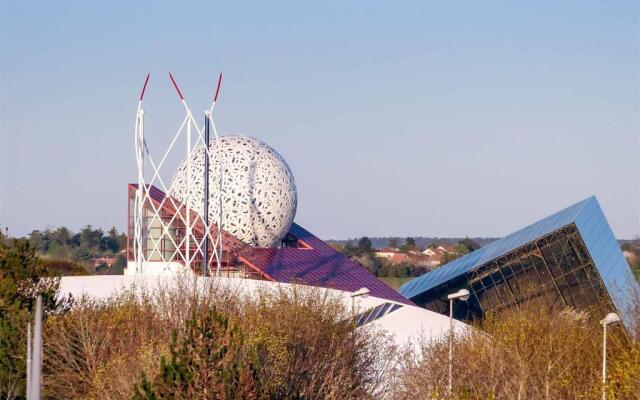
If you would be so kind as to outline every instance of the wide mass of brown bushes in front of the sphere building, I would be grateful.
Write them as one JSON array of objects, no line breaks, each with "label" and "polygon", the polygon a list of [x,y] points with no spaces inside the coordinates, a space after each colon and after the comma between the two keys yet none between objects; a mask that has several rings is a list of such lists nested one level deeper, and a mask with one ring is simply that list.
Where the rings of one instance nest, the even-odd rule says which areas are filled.
[{"label": "wide mass of brown bushes in front of the sphere building", "polygon": [[[186,279],[81,300],[47,323],[51,398],[372,398],[395,358],[314,288],[245,296]],[[163,361],[160,361],[163,360]],[[144,374],[144,378],[141,377]],[[244,391],[243,391],[244,390]]]}]

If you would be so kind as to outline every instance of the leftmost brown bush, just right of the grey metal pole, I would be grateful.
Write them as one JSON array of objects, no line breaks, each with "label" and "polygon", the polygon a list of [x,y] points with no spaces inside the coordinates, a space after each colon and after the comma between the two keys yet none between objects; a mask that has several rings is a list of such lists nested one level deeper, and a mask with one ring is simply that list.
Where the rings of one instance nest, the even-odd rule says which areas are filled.
[{"label": "leftmost brown bush, just right of the grey metal pole", "polygon": [[45,330],[44,385],[51,398],[131,398],[131,382],[157,369],[170,340],[147,296],[79,299]]}]

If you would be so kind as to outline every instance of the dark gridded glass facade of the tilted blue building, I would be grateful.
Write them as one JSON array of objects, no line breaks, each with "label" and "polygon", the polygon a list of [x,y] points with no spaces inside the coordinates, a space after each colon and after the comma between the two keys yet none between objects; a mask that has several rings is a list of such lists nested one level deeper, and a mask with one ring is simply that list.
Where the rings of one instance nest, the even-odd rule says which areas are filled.
[{"label": "dark gridded glass facade of the tilted blue building", "polygon": [[613,307],[606,288],[575,225],[530,242],[458,279],[427,291],[414,302],[442,314],[449,312],[447,295],[469,289],[467,302],[456,302],[455,317],[481,319],[531,300],[542,300],[557,311],[590,309],[603,315]]}]

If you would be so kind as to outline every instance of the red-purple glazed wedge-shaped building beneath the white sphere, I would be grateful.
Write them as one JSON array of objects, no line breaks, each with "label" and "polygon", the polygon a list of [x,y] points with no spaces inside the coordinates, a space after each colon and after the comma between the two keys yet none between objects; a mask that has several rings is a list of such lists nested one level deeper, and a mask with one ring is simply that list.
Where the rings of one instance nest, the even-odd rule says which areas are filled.
[{"label": "red-purple glazed wedge-shaped building beneath the white sphere", "polygon": [[[145,218],[142,248],[142,270],[136,271],[135,221],[129,216],[127,275],[175,275],[183,271],[203,274],[203,222],[202,218],[192,215],[190,244],[186,244],[184,210],[177,199],[167,196],[155,186],[147,188],[148,200],[143,207]],[[129,208],[133,209],[137,184],[129,185]],[[177,206],[177,207],[176,207]],[[176,211],[178,208],[178,211]],[[157,217],[159,216],[159,217]],[[213,227],[214,235],[217,228]],[[245,278],[267,280],[280,283],[298,283],[343,291],[356,291],[368,288],[373,296],[411,304],[396,290],[376,278],[365,267],[334,250],[312,233],[296,223],[291,223],[286,235],[276,246],[260,247],[231,235],[226,230],[222,234],[222,252],[220,276],[226,278]],[[189,248],[190,256],[187,256]],[[215,263],[211,262],[213,248],[209,247],[210,268],[207,276],[216,273]],[[189,260],[186,263],[185,260]]]}]

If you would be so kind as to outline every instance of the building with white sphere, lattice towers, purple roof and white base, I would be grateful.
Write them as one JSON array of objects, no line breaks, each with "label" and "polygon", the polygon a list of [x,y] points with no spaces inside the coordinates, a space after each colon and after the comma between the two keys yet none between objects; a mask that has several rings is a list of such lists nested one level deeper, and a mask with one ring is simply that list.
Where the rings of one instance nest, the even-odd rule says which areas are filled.
[{"label": "building with white sphere, lattice towers, purple roof and white base", "polygon": [[[295,223],[296,184],[284,158],[261,140],[218,135],[210,111],[199,125],[172,82],[186,115],[158,158],[145,136],[144,88],[140,96],[124,275],[65,277],[62,294],[104,298],[122,288],[155,290],[181,281],[228,285],[239,296],[296,288],[338,296],[348,318],[382,327],[399,346],[468,329],[416,306]],[[167,160],[182,161],[173,169]]]}]

